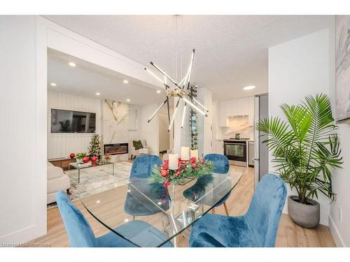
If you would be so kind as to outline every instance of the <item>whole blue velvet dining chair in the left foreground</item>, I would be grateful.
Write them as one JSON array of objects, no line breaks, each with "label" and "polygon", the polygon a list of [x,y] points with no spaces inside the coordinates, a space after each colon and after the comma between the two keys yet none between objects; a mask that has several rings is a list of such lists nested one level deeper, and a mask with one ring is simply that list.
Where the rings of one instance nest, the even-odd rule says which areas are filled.
[{"label": "whole blue velvet dining chair in the left foreground", "polygon": [[[90,224],[64,191],[57,192],[56,201],[71,247],[137,247],[114,232],[95,238]],[[130,221],[114,231],[130,240],[137,238],[137,245],[142,247],[155,247],[167,240],[167,236],[144,221]],[[162,247],[172,247],[172,243],[166,242]]]}]

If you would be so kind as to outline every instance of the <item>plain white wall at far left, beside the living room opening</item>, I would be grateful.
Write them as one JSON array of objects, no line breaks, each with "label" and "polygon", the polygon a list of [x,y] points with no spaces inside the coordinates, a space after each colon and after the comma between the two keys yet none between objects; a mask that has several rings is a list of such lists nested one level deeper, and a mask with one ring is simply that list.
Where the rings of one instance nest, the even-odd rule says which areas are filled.
[{"label": "plain white wall at far left, beside the living room opening", "polygon": [[[0,16],[1,147],[0,242],[25,242],[45,233],[46,95],[37,100],[36,17]],[[38,150],[42,144],[43,151]]]}]

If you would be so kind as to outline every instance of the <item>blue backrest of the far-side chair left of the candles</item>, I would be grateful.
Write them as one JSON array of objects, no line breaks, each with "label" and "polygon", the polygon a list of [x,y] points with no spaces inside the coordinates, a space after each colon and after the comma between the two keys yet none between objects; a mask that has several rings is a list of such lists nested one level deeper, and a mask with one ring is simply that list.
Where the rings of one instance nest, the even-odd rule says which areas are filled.
[{"label": "blue backrest of the far-side chair left of the candles", "polygon": [[139,156],[132,163],[130,177],[147,178],[151,174],[153,166],[161,166],[162,163],[162,159],[158,156],[148,154]]}]

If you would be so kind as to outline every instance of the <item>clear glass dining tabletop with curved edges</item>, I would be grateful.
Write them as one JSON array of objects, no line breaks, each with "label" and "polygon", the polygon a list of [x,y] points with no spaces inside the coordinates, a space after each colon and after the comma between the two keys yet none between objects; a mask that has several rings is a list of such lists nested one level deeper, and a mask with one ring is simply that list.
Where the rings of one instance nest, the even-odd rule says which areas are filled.
[{"label": "clear glass dining tabletop with curved edges", "polygon": [[[184,184],[171,184],[168,188],[146,178],[130,177],[103,188],[84,191],[79,199],[99,223],[138,247],[161,247],[169,241],[176,247],[176,237],[188,233],[195,221],[230,194],[243,174],[244,168],[216,168],[209,175],[189,179]],[[130,236],[118,230],[133,220],[150,224],[165,238],[145,242],[141,235],[151,231]]]}]

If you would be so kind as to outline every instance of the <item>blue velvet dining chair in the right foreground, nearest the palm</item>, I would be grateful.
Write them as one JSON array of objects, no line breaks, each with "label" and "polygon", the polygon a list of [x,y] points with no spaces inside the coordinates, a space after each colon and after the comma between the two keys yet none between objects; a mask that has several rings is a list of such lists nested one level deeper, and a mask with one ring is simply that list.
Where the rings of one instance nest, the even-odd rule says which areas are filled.
[{"label": "blue velvet dining chair in the right foreground, nearest the palm", "polygon": [[286,193],[280,177],[264,175],[246,214],[204,214],[191,229],[190,247],[274,247]]}]

